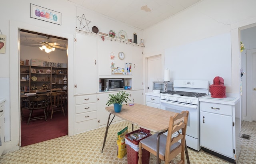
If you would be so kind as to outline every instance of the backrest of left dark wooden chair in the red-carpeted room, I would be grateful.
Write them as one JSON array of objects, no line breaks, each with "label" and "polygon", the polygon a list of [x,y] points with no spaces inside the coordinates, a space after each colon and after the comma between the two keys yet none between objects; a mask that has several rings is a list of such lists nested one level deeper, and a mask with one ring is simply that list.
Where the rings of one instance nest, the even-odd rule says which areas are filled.
[{"label": "backrest of left dark wooden chair in the red-carpeted room", "polygon": [[28,109],[44,109],[49,106],[49,97],[47,95],[28,96]]}]

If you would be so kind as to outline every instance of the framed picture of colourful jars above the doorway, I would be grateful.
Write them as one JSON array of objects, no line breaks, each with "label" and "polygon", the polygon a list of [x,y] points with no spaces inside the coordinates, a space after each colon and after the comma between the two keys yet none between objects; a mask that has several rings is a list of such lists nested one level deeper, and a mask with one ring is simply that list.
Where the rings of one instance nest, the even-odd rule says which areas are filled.
[{"label": "framed picture of colourful jars above the doorway", "polygon": [[61,13],[41,6],[30,4],[30,18],[61,25]]}]

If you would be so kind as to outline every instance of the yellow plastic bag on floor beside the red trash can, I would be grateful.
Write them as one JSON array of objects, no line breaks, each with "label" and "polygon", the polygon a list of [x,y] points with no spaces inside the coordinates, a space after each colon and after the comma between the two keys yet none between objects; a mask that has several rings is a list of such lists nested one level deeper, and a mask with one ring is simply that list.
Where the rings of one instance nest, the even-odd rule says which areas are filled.
[{"label": "yellow plastic bag on floor beside the red trash can", "polygon": [[126,126],[123,130],[120,132],[117,132],[117,157],[123,158],[126,153],[126,144],[125,144],[125,134],[128,133],[128,126]]}]

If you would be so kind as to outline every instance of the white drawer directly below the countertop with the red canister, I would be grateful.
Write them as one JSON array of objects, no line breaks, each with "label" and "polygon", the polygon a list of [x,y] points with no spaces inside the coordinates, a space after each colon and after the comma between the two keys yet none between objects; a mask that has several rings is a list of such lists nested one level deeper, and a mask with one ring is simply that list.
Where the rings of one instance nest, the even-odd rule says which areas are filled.
[{"label": "white drawer directly below the countertop with the red canister", "polygon": [[232,105],[201,102],[201,111],[232,116]]}]

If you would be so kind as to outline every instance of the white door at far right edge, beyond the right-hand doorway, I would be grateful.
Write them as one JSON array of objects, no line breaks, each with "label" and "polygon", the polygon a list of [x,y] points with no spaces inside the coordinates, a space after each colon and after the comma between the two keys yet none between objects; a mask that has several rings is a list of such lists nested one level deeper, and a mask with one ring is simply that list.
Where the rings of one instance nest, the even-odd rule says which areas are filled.
[{"label": "white door at far right edge, beyond the right-hand doorway", "polygon": [[[256,121],[256,49],[246,50],[247,121]],[[251,118],[252,117],[252,118]]]}]

